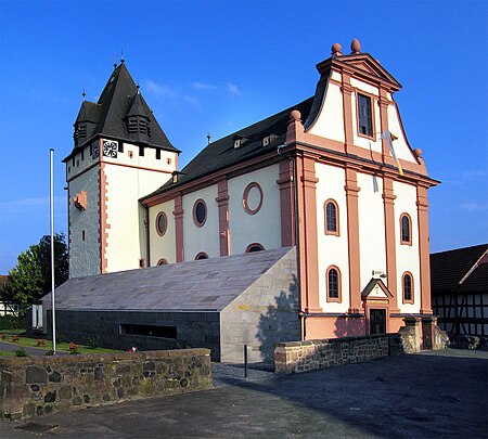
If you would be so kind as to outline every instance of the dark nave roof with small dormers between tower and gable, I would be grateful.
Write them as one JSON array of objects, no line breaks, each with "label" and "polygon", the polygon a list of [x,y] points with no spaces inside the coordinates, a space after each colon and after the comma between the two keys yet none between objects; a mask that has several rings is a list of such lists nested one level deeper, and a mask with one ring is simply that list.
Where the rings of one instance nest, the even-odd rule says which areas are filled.
[{"label": "dark nave roof with small dormers between tower and gable", "polygon": [[[172,179],[170,179],[157,191],[144,196],[142,199],[151,198],[154,195],[162,194],[170,189],[175,189],[230,165],[275,151],[277,146],[283,144],[286,139],[290,112],[292,109],[298,109],[305,120],[310,112],[312,102],[313,96],[249,127],[209,143],[179,172],[178,182],[174,183]],[[268,135],[270,135],[270,142],[267,146],[262,146],[262,139]],[[235,139],[241,139],[241,145],[239,147],[234,147]]]}]

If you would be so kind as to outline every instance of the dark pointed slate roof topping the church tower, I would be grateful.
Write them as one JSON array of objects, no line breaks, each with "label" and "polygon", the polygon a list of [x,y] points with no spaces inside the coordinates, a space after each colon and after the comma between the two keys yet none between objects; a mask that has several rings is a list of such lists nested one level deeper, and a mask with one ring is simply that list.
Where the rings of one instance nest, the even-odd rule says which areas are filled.
[{"label": "dark pointed slate roof topping the church tower", "polygon": [[[134,101],[137,101],[136,106],[132,108]],[[85,101],[81,104],[76,122],[90,121],[97,125],[94,130],[88,132],[87,142],[76,146],[63,162],[69,159],[73,154],[80,151],[87,143],[91,143],[94,135],[104,135],[130,142],[131,138],[127,130],[125,118],[131,108],[132,113],[139,113],[138,115],[150,119],[151,140],[147,143],[149,145],[180,152],[164,133],[144,98],[138,94],[138,88],[129,70],[125,63],[121,63],[112,73],[99,101],[97,103]]]}]

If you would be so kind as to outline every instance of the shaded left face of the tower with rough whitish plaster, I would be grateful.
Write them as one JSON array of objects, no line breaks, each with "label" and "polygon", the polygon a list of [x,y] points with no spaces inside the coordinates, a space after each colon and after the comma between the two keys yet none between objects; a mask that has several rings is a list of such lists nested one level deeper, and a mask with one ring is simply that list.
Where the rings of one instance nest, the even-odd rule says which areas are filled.
[{"label": "shaded left face of the tower with rough whitish plaster", "polygon": [[[69,277],[100,273],[99,172],[95,166],[68,183]],[[87,208],[78,210],[73,198],[81,191],[87,192]]]}]

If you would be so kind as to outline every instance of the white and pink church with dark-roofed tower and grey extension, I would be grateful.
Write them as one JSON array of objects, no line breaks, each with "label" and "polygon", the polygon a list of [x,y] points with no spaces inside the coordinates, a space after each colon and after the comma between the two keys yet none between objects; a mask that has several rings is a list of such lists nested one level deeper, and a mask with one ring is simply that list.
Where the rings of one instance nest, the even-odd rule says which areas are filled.
[{"label": "white and pink church with dark-roofed tower and grey extension", "polygon": [[[432,317],[427,190],[438,181],[407,139],[401,86],[357,39],[350,53],[334,43],[317,70],[314,95],[209,142],[179,169],[180,151],[125,63],[115,66],[99,101],[82,102],[64,159],[70,280],[56,300],[66,332],[76,312],[112,312],[115,338],[192,346],[178,335],[182,314],[211,310],[223,325],[222,310],[239,302],[227,327],[242,331],[228,344],[242,347],[397,332],[406,317]],[[232,295],[209,308],[226,285]],[[270,307],[273,337],[255,327]],[[124,323],[130,313],[139,321]],[[241,348],[224,354],[226,331],[208,340],[236,360]]]}]

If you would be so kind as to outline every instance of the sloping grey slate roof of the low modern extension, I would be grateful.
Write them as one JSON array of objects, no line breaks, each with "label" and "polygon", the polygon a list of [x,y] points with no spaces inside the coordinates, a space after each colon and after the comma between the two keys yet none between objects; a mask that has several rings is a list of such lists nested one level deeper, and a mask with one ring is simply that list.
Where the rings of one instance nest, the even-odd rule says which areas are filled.
[{"label": "sloping grey slate roof of the low modern extension", "polygon": [[[74,277],[55,290],[60,310],[220,311],[291,247]],[[43,297],[51,307],[51,294]]]}]

